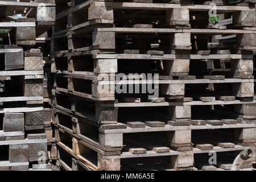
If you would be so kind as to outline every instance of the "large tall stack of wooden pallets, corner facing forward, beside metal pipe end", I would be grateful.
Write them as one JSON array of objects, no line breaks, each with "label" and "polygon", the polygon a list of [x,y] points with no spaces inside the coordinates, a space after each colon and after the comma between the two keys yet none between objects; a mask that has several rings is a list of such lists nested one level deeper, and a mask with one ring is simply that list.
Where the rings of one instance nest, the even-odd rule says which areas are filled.
[{"label": "large tall stack of wooden pallets, corner facing forward, beside metal pipe end", "polygon": [[56,169],[252,169],[255,33],[255,1],[57,1]]}]

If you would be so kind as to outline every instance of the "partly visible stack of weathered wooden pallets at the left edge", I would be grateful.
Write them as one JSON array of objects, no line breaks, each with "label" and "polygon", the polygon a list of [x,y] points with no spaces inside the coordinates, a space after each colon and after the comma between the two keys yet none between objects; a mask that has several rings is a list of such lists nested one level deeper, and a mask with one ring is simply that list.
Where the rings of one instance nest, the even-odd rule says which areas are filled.
[{"label": "partly visible stack of weathered wooden pallets at the left edge", "polygon": [[38,43],[55,23],[55,2],[0,1],[0,6],[0,170],[51,170]]}]

